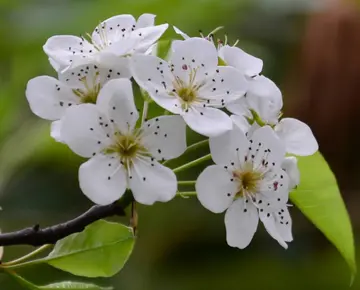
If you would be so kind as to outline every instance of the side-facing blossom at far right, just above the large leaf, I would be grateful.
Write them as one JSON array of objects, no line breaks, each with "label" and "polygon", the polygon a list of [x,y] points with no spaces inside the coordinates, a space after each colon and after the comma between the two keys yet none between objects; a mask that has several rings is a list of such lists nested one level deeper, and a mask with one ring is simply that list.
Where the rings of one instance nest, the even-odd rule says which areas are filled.
[{"label": "side-facing blossom at far right, just above the large leaf", "polygon": [[314,154],[319,145],[310,127],[294,118],[281,118],[282,95],[278,87],[264,76],[255,77],[245,97],[226,108],[231,119],[246,133],[270,125],[284,142],[286,152],[299,156]]}]

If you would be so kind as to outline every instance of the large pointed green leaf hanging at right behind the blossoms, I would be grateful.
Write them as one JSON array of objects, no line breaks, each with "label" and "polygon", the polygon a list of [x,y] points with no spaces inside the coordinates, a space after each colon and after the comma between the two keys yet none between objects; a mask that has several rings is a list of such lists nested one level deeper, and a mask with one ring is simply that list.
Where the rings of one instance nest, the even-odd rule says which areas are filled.
[{"label": "large pointed green leaf hanging at right behind the blossoms", "polygon": [[292,202],[339,250],[356,274],[354,236],[336,178],[322,155],[298,157],[300,185]]}]

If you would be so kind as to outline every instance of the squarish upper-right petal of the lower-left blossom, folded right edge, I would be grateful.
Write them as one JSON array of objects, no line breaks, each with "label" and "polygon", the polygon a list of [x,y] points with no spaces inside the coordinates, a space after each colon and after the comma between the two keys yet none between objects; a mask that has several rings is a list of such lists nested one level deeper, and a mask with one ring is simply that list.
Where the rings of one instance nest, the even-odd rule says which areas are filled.
[{"label": "squarish upper-right petal of the lower-left blossom, folded right edge", "polygon": [[187,148],[181,116],[160,116],[144,123],[142,142],[157,160],[179,157]]}]

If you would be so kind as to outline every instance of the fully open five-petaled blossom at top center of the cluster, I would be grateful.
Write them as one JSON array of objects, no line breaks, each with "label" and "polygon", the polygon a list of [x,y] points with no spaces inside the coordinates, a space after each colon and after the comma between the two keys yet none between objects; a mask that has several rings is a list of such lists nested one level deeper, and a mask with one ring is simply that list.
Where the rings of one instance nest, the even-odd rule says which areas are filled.
[{"label": "fully open five-petaled blossom at top center of the cluster", "polygon": [[235,68],[218,66],[213,43],[190,38],[175,41],[169,63],[151,55],[134,55],[131,69],[136,82],[166,110],[181,115],[187,125],[205,136],[232,128],[218,108],[242,97],[244,76]]}]

